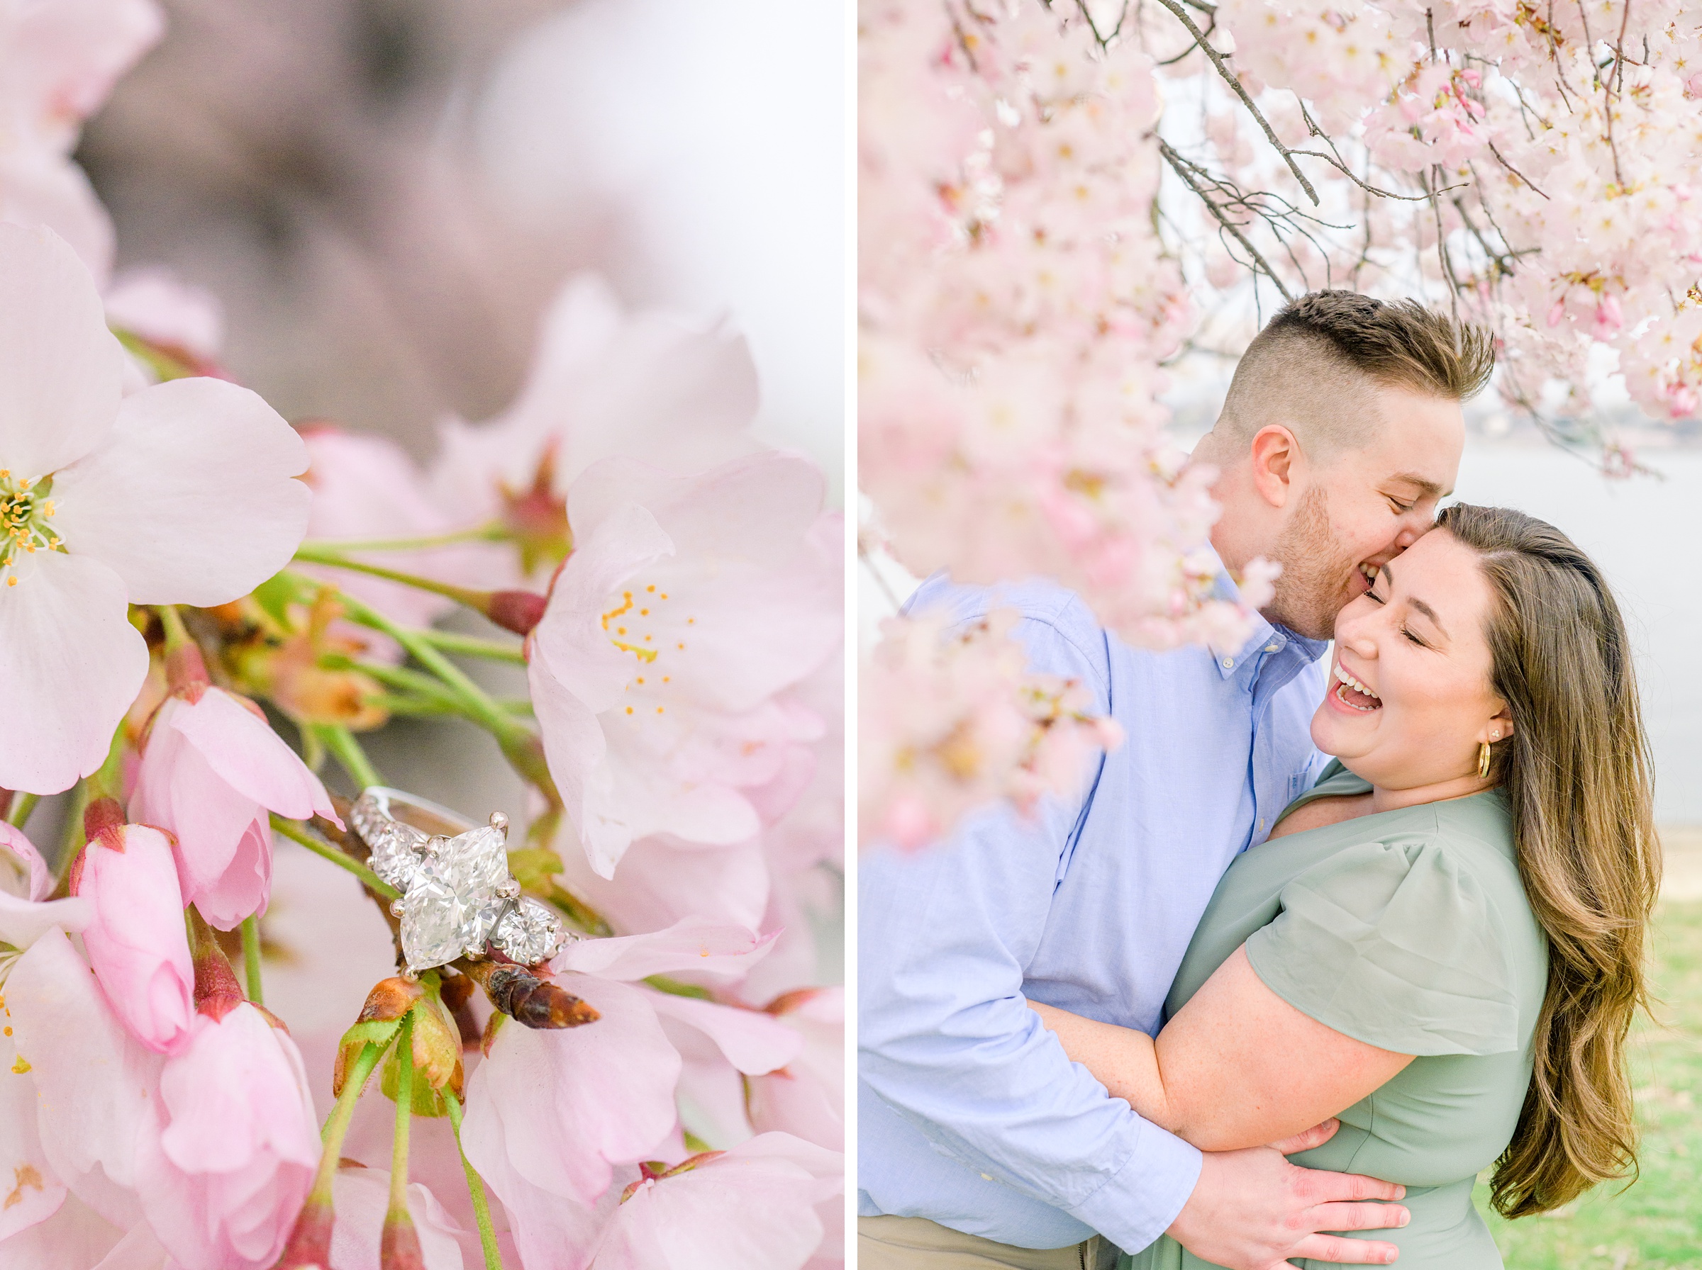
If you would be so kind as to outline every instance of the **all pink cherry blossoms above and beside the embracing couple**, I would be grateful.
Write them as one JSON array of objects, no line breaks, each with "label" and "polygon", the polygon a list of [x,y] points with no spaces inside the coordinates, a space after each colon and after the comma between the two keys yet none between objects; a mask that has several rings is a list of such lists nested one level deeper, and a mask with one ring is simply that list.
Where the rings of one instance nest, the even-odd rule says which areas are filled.
[{"label": "all pink cherry blossoms above and beside the embracing couple", "polygon": [[[914,573],[1045,575],[1139,643],[1232,643],[1198,549],[1210,473],[1166,454],[1159,398],[1309,289],[1489,326],[1505,401],[1615,471],[1605,381],[1656,420],[1699,410],[1702,14],[1680,0],[868,0],[860,39],[860,476],[870,539]],[[880,835],[1025,785],[985,779],[992,750],[975,782],[902,765],[979,734],[943,700],[907,717],[904,661],[865,694],[897,763],[863,809]],[[999,683],[1016,717],[1019,672]]]}]

